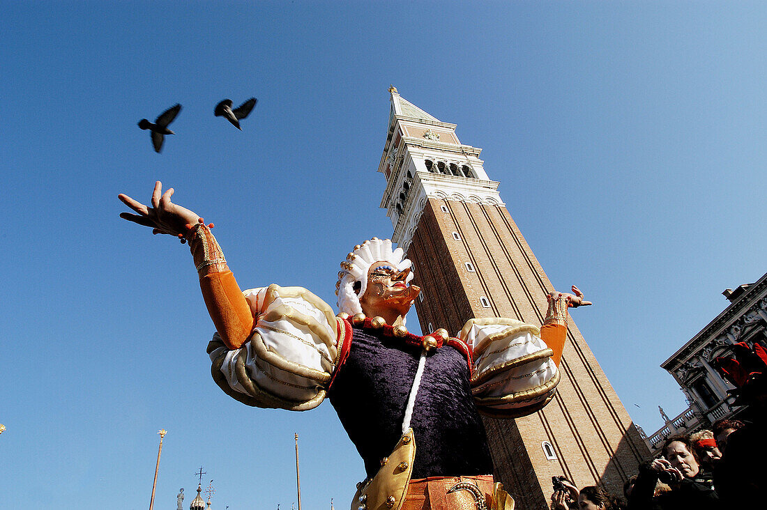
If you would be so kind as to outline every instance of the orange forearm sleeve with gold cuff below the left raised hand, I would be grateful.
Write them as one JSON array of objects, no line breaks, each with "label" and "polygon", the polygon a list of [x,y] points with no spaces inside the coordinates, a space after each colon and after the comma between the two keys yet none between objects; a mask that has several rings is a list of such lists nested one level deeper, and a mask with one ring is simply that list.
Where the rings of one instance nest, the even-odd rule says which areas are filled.
[{"label": "orange forearm sleeve with gold cuff below the left raised hand", "polygon": [[186,239],[197,267],[202,298],[216,331],[226,347],[237,349],[245,344],[253,329],[250,305],[242,295],[235,275],[229,271],[221,247],[210,229],[198,223],[189,229]]}]

